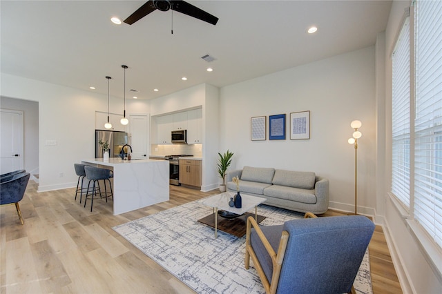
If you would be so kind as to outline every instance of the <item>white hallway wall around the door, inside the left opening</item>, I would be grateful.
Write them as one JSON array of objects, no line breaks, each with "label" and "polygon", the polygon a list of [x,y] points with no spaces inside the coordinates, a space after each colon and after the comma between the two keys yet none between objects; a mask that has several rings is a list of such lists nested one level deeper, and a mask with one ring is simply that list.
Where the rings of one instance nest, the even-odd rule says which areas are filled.
[{"label": "white hallway wall around the door, inside the left opening", "polygon": [[0,97],[0,108],[23,111],[23,163],[31,175],[39,173],[39,104],[35,101]]}]

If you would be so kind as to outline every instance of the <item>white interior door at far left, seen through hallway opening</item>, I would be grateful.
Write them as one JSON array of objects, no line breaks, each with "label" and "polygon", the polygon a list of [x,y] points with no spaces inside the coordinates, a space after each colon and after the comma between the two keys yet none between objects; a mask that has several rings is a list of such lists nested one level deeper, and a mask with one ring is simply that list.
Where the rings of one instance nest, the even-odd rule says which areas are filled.
[{"label": "white interior door at far left, seen through hallway opening", "polygon": [[23,169],[23,112],[0,110],[0,174]]}]

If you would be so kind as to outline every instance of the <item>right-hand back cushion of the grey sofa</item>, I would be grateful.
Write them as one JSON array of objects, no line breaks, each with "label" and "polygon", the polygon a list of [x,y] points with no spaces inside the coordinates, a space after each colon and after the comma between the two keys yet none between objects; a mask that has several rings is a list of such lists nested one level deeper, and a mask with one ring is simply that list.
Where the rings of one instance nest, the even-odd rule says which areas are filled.
[{"label": "right-hand back cushion of the grey sofa", "polygon": [[289,186],[302,189],[313,189],[316,175],[313,172],[297,172],[291,170],[276,170],[273,185]]}]

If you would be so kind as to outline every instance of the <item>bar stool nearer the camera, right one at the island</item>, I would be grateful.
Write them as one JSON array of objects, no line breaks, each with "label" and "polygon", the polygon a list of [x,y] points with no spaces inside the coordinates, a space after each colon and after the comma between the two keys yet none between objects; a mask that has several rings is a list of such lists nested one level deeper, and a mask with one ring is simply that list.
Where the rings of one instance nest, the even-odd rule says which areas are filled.
[{"label": "bar stool nearer the camera, right one at the island", "polygon": [[[106,202],[108,202],[108,197],[112,197],[113,200],[112,184],[110,180],[110,178],[113,177],[113,171],[107,170],[106,168],[96,168],[95,166],[85,166],[84,171],[86,172],[86,178],[89,180],[88,191],[86,192],[86,197],[84,199],[84,207],[86,207],[87,199],[90,199],[90,212],[92,212],[94,197],[96,197],[97,195],[99,195],[100,198],[105,197]],[[100,179],[102,179],[104,182],[104,192],[102,192],[102,190],[99,187]],[[109,187],[111,187],[111,192],[107,191],[106,180],[108,180],[109,182]],[[93,182],[93,187],[92,187],[92,193],[89,194],[89,187],[91,181]],[[97,183],[97,186],[95,186],[95,183]]]}]

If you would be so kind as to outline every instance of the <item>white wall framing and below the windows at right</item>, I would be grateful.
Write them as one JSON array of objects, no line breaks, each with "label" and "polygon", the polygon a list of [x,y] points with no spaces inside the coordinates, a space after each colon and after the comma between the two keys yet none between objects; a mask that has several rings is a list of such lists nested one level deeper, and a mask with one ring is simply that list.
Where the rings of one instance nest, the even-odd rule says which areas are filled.
[{"label": "white wall framing and below the windows at right", "polygon": [[[410,6],[410,1],[394,1],[390,11],[389,21],[385,30],[385,236],[389,242],[390,251],[395,262],[401,286],[404,293],[441,293],[442,275],[433,268],[432,262],[439,263],[442,253],[439,249],[429,255],[423,244],[424,235],[418,238],[412,228],[413,221],[403,217],[403,212],[387,195],[391,182],[391,136],[392,136],[392,61],[390,55],[401,30],[404,10]],[[383,119],[379,118],[379,121]],[[429,245],[425,244],[425,246]]]}]

